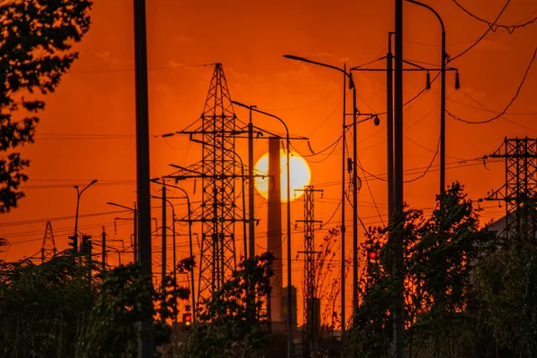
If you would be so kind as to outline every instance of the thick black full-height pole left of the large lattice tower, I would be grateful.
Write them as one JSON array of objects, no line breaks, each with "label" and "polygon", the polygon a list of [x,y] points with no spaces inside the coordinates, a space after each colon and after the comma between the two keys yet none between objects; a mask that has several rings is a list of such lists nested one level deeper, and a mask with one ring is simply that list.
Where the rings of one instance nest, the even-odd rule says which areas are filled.
[{"label": "thick black full-height pole left of the large lattice tower", "polygon": [[[136,176],[140,206],[141,275],[151,277],[151,208],[149,200],[149,103],[145,0],[134,1],[134,75],[136,92]],[[150,301],[147,302],[151,307]],[[138,356],[152,358],[154,351],[151,311],[138,324]]]}]

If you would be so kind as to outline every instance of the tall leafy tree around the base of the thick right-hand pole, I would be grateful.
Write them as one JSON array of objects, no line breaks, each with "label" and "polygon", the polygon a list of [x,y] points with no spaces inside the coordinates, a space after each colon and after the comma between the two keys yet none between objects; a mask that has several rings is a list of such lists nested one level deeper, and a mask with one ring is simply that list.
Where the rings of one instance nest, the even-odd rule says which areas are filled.
[{"label": "tall leafy tree around the base of the thick right-hand pole", "polygon": [[[398,300],[395,240],[401,240],[405,328],[409,356],[466,356],[468,335],[461,328],[472,320],[471,272],[489,248],[490,234],[480,230],[473,202],[454,183],[437,201],[430,217],[405,208],[390,226],[371,228],[365,251],[378,251],[362,278],[361,304],[354,315],[347,349],[357,356],[389,356],[391,312]],[[469,338],[468,338],[469,339]],[[461,355],[456,355],[461,354]]]}]

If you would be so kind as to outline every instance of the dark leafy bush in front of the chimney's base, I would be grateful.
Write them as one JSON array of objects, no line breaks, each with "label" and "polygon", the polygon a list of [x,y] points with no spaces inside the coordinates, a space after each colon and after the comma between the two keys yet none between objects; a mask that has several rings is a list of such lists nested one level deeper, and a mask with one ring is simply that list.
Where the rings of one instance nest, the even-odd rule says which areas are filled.
[{"label": "dark leafy bush in front of the chimney's base", "polygon": [[[199,319],[183,351],[187,357],[255,357],[267,348],[274,256],[244,260],[220,290],[201,304]],[[251,293],[255,293],[252,297]],[[209,323],[205,323],[209,322]]]}]

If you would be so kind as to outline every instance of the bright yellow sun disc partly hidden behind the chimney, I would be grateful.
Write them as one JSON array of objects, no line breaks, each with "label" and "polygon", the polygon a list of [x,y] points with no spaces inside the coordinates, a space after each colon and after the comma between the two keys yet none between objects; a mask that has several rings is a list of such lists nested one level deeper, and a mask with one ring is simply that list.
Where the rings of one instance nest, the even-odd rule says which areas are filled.
[{"label": "bright yellow sun disc partly hidden behind the chimney", "polygon": [[[291,151],[289,165],[291,166],[291,201],[300,198],[303,191],[295,192],[296,189],[303,189],[304,186],[311,182],[310,166],[300,154]],[[260,177],[259,175],[268,175],[268,153],[265,153],[258,159],[254,166],[256,178],[254,180],[255,189],[264,198],[268,199],[268,176]],[[280,183],[281,183],[281,200],[287,200],[287,156],[284,150],[280,150]]]}]

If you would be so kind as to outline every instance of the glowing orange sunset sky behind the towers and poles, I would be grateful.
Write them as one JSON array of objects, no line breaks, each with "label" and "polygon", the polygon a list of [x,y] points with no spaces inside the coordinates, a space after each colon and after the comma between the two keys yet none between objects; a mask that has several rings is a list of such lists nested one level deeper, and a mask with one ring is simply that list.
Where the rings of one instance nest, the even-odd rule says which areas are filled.
[{"label": "glowing orange sunset sky behind the towers and poles", "polygon": [[[318,66],[287,60],[284,54],[300,55],[315,61],[342,66],[370,62],[386,55],[388,31],[394,29],[393,0],[376,2],[337,1],[148,1],[149,51],[149,121],[151,135],[175,132],[200,117],[209,88],[213,66],[222,63],[234,100],[254,104],[283,118],[295,135],[310,138],[315,151],[336,141],[341,134],[342,78],[340,73]],[[487,25],[463,13],[450,1],[427,3],[435,6],[447,30],[447,53],[452,57],[464,51],[481,37]],[[505,4],[503,0],[461,0],[471,12],[492,21]],[[533,0],[509,4],[499,23],[515,24],[537,14]],[[461,90],[453,89],[454,74],[447,73],[447,109],[470,121],[491,116],[478,104],[501,111],[515,94],[535,46],[537,24],[507,34],[506,30],[490,34],[469,53],[456,59],[461,73]],[[405,4],[405,59],[439,64],[440,30],[438,21],[426,10]],[[23,186],[27,197],[19,208],[0,219],[0,236],[12,246],[6,260],[31,256],[41,246],[47,219],[52,221],[55,243],[59,250],[67,247],[76,204],[73,184],[81,186],[98,179],[98,184],[81,199],[81,215],[115,211],[106,204],[115,201],[130,206],[135,200],[134,139],[134,73],[132,38],[132,1],[95,0],[92,27],[78,46],[80,59],[55,94],[47,97],[46,111],[41,115],[36,143],[23,149],[30,158],[27,171],[30,180]],[[384,62],[371,64],[381,68]],[[383,112],[386,102],[386,80],[382,72],[355,73],[358,108],[362,112]],[[412,98],[425,84],[423,73],[405,73],[405,99]],[[504,165],[490,163],[461,167],[463,159],[482,157],[499,148],[504,137],[534,137],[537,114],[534,93],[537,91],[537,69],[533,68],[514,105],[503,118],[491,124],[461,124],[447,116],[447,163],[458,166],[447,170],[447,183],[458,180],[466,185],[472,199],[486,196],[505,180]],[[467,97],[468,96],[468,97]],[[350,107],[349,107],[350,110]],[[243,108],[237,115],[247,120]],[[362,166],[370,173],[386,173],[386,124],[375,127],[371,122],[359,125],[358,150]],[[283,132],[268,117],[254,115],[254,123],[268,130]],[[412,105],[405,107],[405,170],[428,166],[439,136],[439,81]],[[349,140],[349,149],[351,137]],[[170,173],[169,163],[189,165],[199,159],[199,145],[186,137],[150,140],[151,176]],[[300,153],[311,154],[307,143],[294,142]],[[266,141],[255,143],[255,158],[267,149]],[[236,151],[246,160],[246,142],[237,141]],[[312,184],[324,190],[316,199],[316,219],[327,221],[340,200],[341,146],[330,156],[310,158]],[[324,160],[323,160],[324,159]],[[475,164],[475,162],[468,162]],[[433,169],[438,168],[439,158]],[[409,174],[405,179],[419,175]],[[363,177],[363,174],[360,173]],[[183,184],[183,183],[182,183]],[[200,183],[197,183],[200,188]],[[370,180],[372,197],[386,219],[386,183]],[[438,191],[439,172],[430,171],[422,179],[405,184],[405,200],[416,208],[431,208]],[[193,191],[192,183],[184,188]],[[158,193],[154,187],[153,192]],[[171,195],[179,195],[172,192]],[[192,192],[200,200],[200,191]],[[181,200],[176,209],[184,212]],[[370,191],[363,181],[359,194],[359,212],[366,225],[377,225],[380,218],[374,209]],[[158,201],[153,202],[159,206]],[[504,208],[494,202],[483,204],[485,220],[499,218]],[[256,217],[266,217],[266,200],[256,195]],[[351,207],[347,206],[350,214]],[[160,209],[153,213],[161,217]],[[60,217],[67,217],[57,220]],[[98,236],[101,226],[116,239],[129,241],[132,223],[117,222],[114,217],[131,217],[129,212],[81,217],[81,231]],[[347,215],[350,218],[350,215]],[[303,201],[293,203],[293,222],[303,219]],[[29,224],[5,224],[38,220]],[[329,227],[339,224],[337,214]],[[350,226],[351,222],[348,222]],[[326,226],[328,228],[328,226]],[[186,227],[180,227],[186,233]],[[200,228],[195,227],[194,231]],[[241,230],[237,230],[241,233]],[[259,251],[265,246],[266,226],[257,228]],[[362,232],[362,230],[360,230]],[[347,247],[351,247],[347,231]],[[318,231],[321,238],[326,231]],[[179,242],[184,245],[186,238]],[[294,251],[303,246],[303,235],[297,229],[293,236]],[[121,247],[121,243],[114,243]],[[157,244],[157,243],[155,243]],[[180,251],[185,251],[182,246]],[[242,251],[241,240],[237,251]],[[179,254],[180,257],[186,253]],[[348,253],[351,254],[350,251]],[[170,257],[170,254],[168,254]],[[130,255],[124,255],[124,260]],[[160,255],[155,254],[155,260]],[[285,258],[286,259],[286,258]],[[110,263],[117,262],[112,255]],[[302,277],[302,260],[296,261],[294,279]],[[350,289],[349,293],[350,303]]]}]

